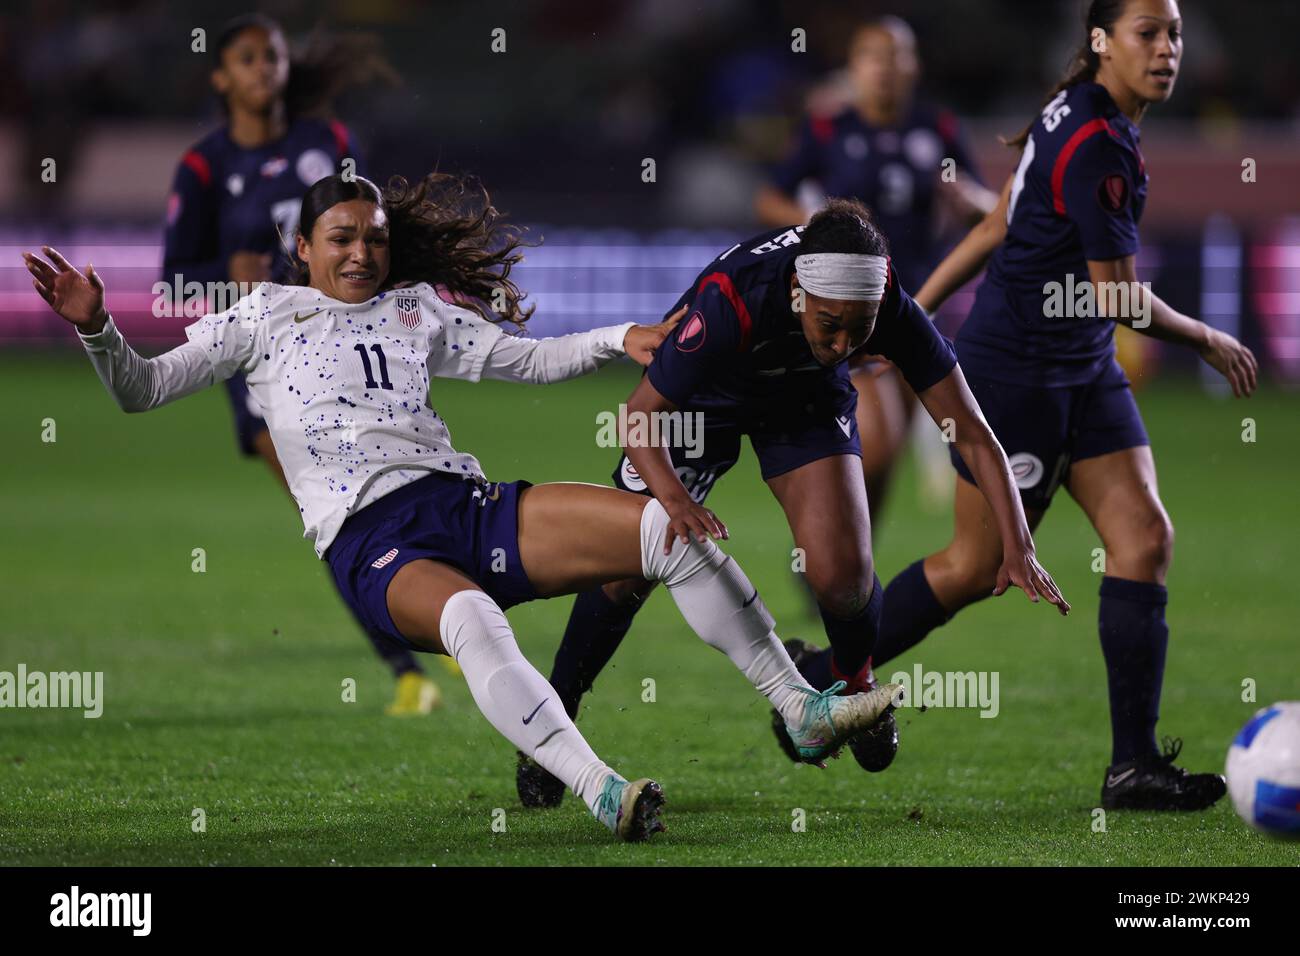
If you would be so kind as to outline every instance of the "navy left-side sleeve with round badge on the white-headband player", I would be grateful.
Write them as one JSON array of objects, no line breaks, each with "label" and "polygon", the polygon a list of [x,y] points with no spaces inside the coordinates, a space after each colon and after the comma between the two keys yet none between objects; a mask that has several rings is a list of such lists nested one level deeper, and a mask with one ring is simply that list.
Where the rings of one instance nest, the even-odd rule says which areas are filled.
[{"label": "navy left-side sleeve with round badge on the white-headband player", "polygon": [[655,390],[680,408],[740,351],[744,339],[742,320],[731,298],[719,284],[706,284],[672,337],[655,350],[646,375]]}]

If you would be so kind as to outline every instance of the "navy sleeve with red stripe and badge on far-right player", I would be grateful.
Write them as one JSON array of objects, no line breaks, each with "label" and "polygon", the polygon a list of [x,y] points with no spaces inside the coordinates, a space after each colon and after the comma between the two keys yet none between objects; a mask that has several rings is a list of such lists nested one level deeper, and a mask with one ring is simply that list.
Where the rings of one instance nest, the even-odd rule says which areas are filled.
[{"label": "navy sleeve with red stripe and badge on far-right player", "polygon": [[1121,259],[1138,252],[1136,165],[1132,153],[1104,131],[1084,139],[1066,159],[1057,212],[1063,204],[1063,213],[1079,230],[1086,259]]}]

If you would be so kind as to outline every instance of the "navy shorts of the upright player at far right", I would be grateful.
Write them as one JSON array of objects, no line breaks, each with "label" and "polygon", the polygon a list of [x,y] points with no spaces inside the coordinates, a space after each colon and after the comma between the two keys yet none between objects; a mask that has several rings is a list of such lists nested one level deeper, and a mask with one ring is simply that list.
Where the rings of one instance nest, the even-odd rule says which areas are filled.
[{"label": "navy shorts of the upright player at far right", "polygon": [[[1026,388],[970,372],[966,382],[1006,451],[1027,509],[1046,509],[1071,462],[1150,444],[1128,377],[1114,360],[1084,385]],[[975,484],[957,447],[948,453],[957,473]]]}]

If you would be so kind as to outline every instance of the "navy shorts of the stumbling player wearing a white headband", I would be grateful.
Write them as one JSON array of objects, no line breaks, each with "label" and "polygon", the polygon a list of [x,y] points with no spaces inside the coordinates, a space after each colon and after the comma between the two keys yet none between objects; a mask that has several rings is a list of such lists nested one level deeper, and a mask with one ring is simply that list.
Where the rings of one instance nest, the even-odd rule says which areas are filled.
[{"label": "navy shorts of the stumbling player wearing a white headband", "polygon": [[[740,459],[742,434],[749,436],[764,481],[832,455],[861,458],[857,406],[858,393],[849,392],[841,399],[838,408],[820,414],[814,406],[806,406],[797,415],[741,423],[701,412],[705,420],[703,442],[699,449],[702,454],[690,458],[688,457],[690,449],[673,445],[668,449],[668,455],[681,484],[698,505],[708,497],[714,483],[731,471]],[[689,408],[684,412],[694,414]],[[645,480],[632,467],[625,454],[619,459],[619,467],[614,470],[614,486],[624,492],[650,494]]]}]

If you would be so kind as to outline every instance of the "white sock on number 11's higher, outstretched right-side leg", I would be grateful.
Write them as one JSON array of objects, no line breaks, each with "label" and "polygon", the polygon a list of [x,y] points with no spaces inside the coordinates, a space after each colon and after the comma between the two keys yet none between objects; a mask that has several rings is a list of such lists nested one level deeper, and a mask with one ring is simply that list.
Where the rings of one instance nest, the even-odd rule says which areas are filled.
[{"label": "white sock on number 11's higher, outstretched right-side leg", "polygon": [[[668,512],[654,498],[641,512],[641,570],[651,581],[663,581],[681,617],[708,645],[731,658],[749,682],[772,702],[786,723],[800,726],[811,691],[772,630],[758,591],[740,564],[711,540],[679,538],[663,553]],[[746,606],[745,602],[749,602]],[[792,687],[793,684],[793,687]]]}]

